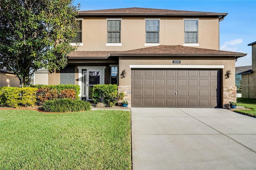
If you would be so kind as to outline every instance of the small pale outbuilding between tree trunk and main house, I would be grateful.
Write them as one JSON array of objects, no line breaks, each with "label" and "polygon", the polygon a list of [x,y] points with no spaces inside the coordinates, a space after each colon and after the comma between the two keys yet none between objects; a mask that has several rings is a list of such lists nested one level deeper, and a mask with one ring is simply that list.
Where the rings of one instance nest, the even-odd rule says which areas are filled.
[{"label": "small pale outbuilding between tree trunk and main house", "polygon": [[34,81],[33,84],[34,85],[48,85],[48,69],[40,69],[37,70],[36,72],[34,72]]}]

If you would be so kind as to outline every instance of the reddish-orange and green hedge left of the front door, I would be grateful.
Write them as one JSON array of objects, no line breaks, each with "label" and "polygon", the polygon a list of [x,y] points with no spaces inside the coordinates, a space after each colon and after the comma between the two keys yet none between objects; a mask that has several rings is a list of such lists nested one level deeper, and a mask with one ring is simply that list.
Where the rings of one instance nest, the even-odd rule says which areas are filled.
[{"label": "reddish-orange and green hedge left of the front door", "polygon": [[31,85],[31,87],[38,88],[36,93],[38,105],[54,99],[79,99],[79,85]]}]

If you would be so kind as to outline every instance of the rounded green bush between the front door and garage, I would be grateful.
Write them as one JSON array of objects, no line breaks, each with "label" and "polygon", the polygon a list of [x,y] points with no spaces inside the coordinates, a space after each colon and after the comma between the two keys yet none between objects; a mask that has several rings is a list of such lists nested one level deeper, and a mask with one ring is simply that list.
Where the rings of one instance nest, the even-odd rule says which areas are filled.
[{"label": "rounded green bush between the front door and garage", "polygon": [[94,103],[104,103],[107,107],[114,106],[119,100],[124,98],[124,93],[118,93],[117,85],[94,85],[92,89],[92,99]]}]

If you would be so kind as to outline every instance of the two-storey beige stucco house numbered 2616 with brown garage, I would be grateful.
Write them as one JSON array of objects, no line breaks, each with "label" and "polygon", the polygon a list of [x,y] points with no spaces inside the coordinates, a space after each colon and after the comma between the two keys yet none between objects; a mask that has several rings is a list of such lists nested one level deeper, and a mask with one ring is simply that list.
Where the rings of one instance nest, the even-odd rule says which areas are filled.
[{"label": "two-storey beige stucco house numbered 2616 with brown garage", "polygon": [[[131,107],[222,107],[236,101],[235,59],[219,50],[227,13],[122,8],[80,11],[68,66],[49,84],[118,84]],[[118,73],[116,73],[118,72]]]}]

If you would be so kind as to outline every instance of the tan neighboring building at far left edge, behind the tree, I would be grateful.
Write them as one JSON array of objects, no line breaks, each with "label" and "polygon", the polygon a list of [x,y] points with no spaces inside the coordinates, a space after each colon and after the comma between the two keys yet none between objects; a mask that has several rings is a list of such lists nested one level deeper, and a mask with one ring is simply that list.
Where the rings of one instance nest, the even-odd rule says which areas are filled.
[{"label": "tan neighboring building at far left edge, behind the tree", "polygon": [[20,80],[18,77],[4,69],[0,70],[0,87],[20,87]]}]

